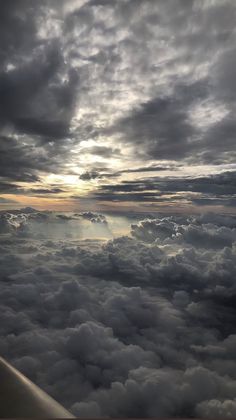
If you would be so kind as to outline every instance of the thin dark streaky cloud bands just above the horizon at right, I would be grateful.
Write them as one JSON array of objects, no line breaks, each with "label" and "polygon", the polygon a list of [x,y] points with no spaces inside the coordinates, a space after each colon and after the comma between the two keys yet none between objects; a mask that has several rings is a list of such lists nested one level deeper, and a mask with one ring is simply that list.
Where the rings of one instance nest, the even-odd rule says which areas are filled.
[{"label": "thin dark streaky cloud bands just above the horizon at right", "polygon": [[[197,194],[197,196],[196,196]],[[235,206],[235,172],[205,177],[149,177],[116,184],[101,184],[91,194],[97,200],[122,202],[181,202]]]}]

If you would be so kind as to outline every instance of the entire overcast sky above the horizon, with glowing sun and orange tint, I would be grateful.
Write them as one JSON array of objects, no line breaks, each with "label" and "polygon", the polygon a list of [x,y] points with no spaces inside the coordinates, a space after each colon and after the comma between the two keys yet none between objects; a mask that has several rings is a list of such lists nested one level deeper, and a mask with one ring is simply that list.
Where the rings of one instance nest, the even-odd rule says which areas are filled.
[{"label": "entire overcast sky above the horizon, with glowing sun and orange tint", "polygon": [[233,0],[9,0],[0,208],[235,213]]}]

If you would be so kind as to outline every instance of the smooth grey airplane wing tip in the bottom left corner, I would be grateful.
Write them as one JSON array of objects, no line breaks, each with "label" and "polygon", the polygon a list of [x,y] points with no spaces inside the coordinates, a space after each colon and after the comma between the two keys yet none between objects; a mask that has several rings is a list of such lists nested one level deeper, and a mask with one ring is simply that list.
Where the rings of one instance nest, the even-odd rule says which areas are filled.
[{"label": "smooth grey airplane wing tip in the bottom left corner", "polygon": [[0,418],[74,418],[0,357]]}]

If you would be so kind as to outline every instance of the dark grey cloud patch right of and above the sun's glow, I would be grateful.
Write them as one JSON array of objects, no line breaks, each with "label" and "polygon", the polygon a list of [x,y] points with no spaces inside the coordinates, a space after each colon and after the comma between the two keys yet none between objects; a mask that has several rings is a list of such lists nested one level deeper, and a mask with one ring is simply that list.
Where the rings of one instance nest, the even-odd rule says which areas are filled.
[{"label": "dark grey cloud patch right of and above the sun's glow", "polygon": [[[191,88],[186,87],[189,92]],[[207,90],[205,86],[206,96]],[[200,94],[193,93],[192,104],[199,100]],[[191,102],[181,94],[154,99],[141,104],[138,110],[121,119],[114,130],[120,131],[126,142],[132,141],[141,157],[170,160],[189,158],[195,162],[216,164],[232,160],[230,154],[234,156],[236,128],[234,112],[207,132],[201,132],[189,121]]]}]

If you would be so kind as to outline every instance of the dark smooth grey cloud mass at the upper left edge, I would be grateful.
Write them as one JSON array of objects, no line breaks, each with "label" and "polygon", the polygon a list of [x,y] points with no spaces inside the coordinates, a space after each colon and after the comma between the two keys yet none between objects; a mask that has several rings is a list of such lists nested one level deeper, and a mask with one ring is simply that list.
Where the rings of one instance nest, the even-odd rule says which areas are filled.
[{"label": "dark smooth grey cloud mass at the upper left edge", "polygon": [[[42,136],[44,140],[52,141],[69,135],[70,113],[74,105],[77,76],[71,72],[67,84],[52,80],[50,86],[50,79],[57,76],[59,64],[54,49],[52,53],[46,54],[45,68],[44,64],[41,64],[44,57],[42,59],[40,56],[37,57],[29,69],[23,69],[25,80],[24,78],[22,80],[18,71],[15,75],[12,71],[10,76],[2,80],[3,87],[0,87],[0,92],[2,114],[7,123],[13,123],[21,133]],[[33,71],[35,67],[36,72]],[[32,80],[29,80],[30,77]]]}]

